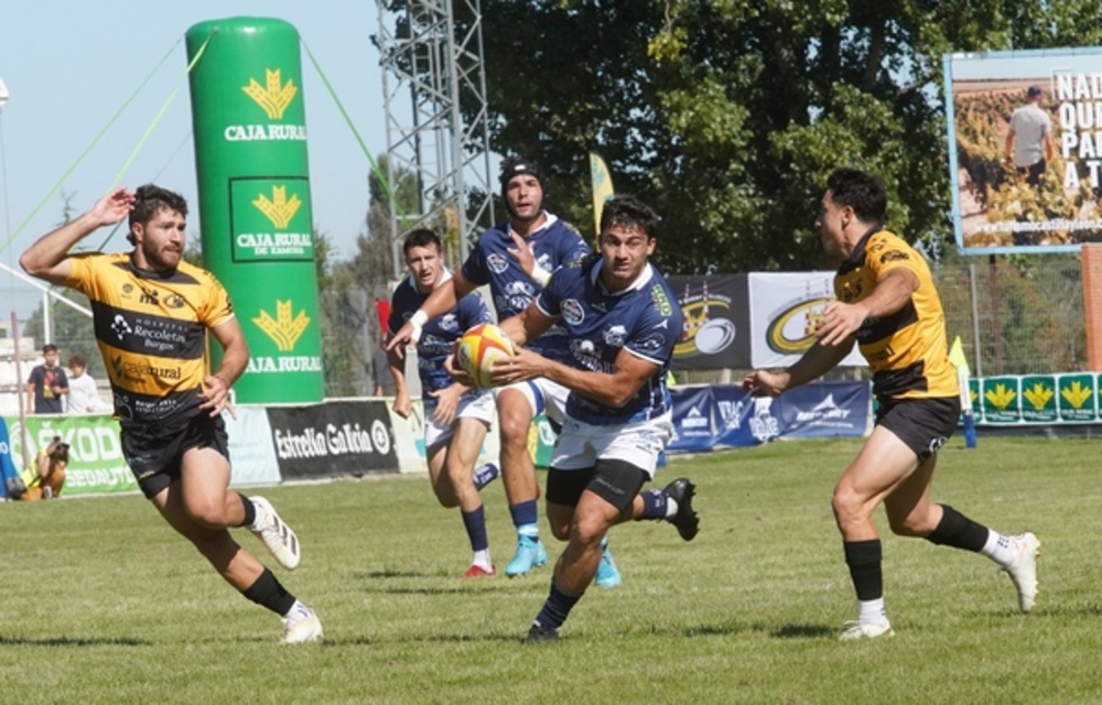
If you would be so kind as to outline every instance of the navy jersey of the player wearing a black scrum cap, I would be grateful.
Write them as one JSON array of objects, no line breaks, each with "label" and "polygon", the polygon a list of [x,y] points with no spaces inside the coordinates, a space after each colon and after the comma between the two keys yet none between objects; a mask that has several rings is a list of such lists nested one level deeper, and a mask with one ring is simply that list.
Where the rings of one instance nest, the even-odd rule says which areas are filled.
[{"label": "navy jersey of the player wearing a black scrum cap", "polygon": [[[548,219],[543,227],[526,238],[537,264],[553,272],[562,264],[575,262],[593,251],[572,226],[550,213],[545,215]],[[540,293],[539,284],[525,274],[517,258],[509,253],[517,248],[509,230],[509,224],[504,223],[483,232],[463,263],[464,279],[479,286],[489,284],[498,321],[519,314]],[[552,326],[538,340],[531,340],[528,347],[548,359],[572,364],[570,337],[562,325]]]}]

